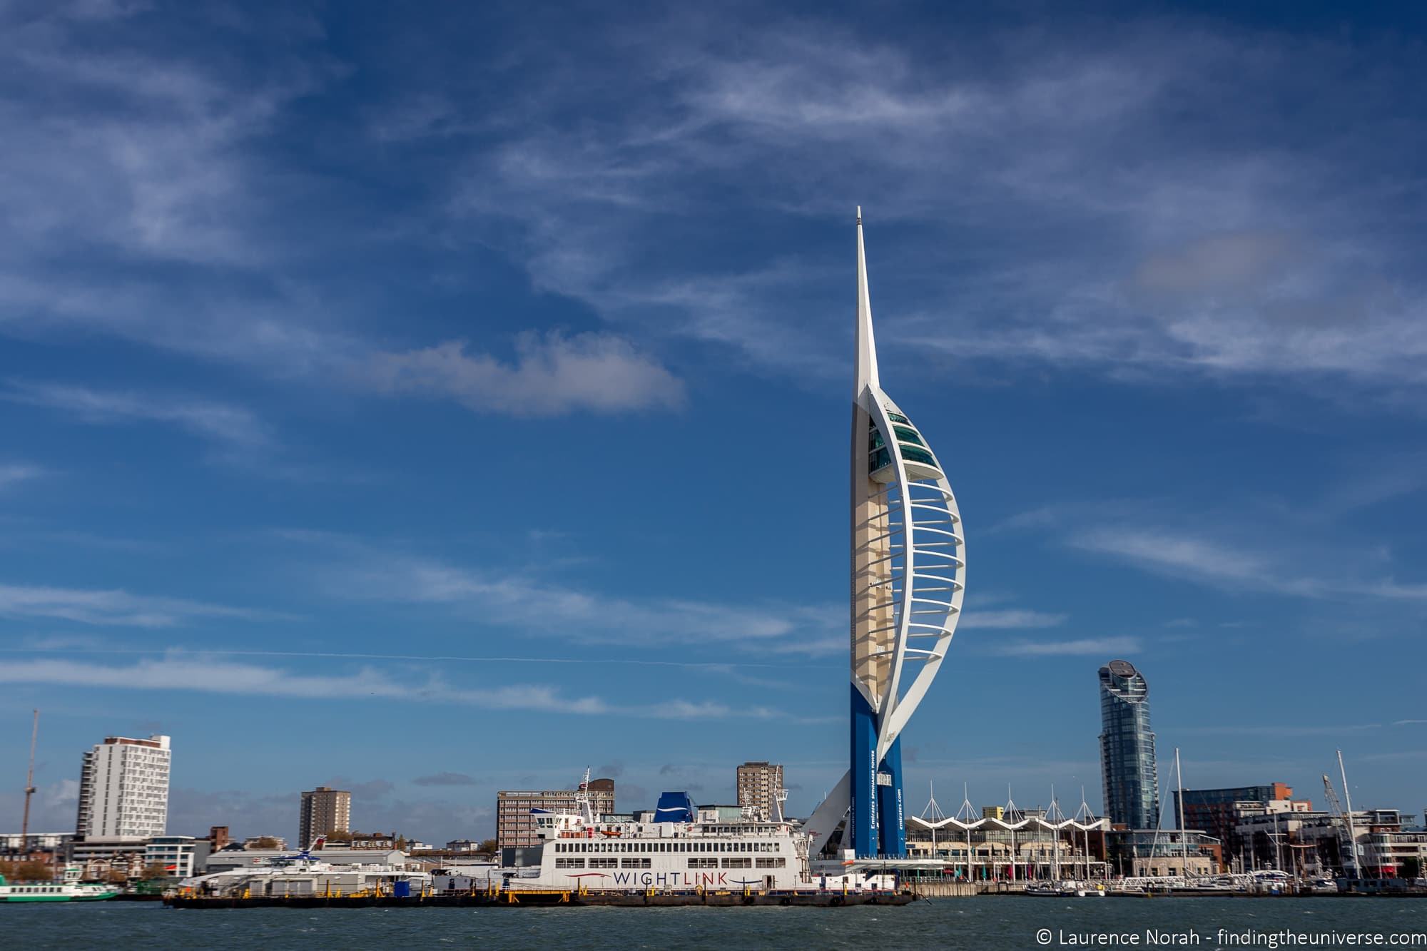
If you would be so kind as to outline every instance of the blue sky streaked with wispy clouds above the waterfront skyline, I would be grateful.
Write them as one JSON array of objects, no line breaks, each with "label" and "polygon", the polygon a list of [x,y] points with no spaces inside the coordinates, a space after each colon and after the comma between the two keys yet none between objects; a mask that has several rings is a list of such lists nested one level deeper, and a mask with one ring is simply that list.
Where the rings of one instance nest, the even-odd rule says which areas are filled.
[{"label": "blue sky streaked with wispy clouds above the waterfront skyline", "polygon": [[686,7],[0,6],[0,825],[34,705],[46,828],[160,730],[173,832],[811,810],[856,204],[968,535],[915,811],[1099,808],[1112,657],[1189,785],[1420,810],[1421,14]]}]

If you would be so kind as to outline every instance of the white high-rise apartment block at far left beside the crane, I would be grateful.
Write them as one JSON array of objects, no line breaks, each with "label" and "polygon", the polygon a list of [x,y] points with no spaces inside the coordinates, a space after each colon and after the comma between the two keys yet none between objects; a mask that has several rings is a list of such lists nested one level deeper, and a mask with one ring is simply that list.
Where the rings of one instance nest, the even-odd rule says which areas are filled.
[{"label": "white high-rise apartment block at far left beside the crane", "polygon": [[74,834],[148,838],[168,822],[168,737],[106,737],[84,754]]}]

